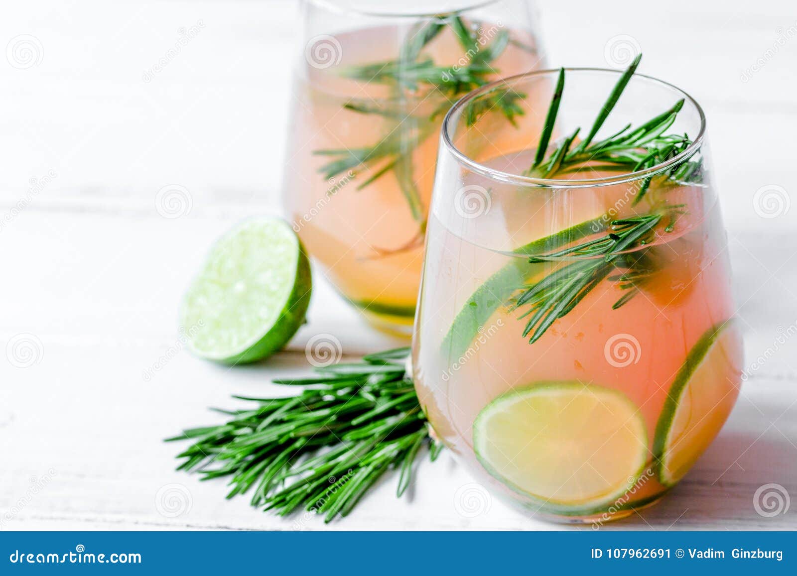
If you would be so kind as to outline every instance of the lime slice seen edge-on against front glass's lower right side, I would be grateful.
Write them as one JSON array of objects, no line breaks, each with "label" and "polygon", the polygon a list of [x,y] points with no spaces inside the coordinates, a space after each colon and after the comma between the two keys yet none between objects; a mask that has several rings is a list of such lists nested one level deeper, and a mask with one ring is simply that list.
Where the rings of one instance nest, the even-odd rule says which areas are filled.
[{"label": "lime slice seen edge-on against front glass's lower right side", "polygon": [[659,480],[672,486],[709,447],[733,408],[740,339],[732,320],[701,336],[675,376],[656,425]]}]

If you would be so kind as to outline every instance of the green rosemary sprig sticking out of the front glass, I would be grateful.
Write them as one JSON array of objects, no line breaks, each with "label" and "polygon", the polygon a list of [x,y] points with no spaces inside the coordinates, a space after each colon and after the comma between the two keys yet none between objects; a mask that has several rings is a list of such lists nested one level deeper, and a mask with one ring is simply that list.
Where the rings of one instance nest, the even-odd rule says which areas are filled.
[{"label": "green rosemary sprig sticking out of the front glass", "polygon": [[[595,169],[595,165],[587,163],[599,162],[599,166],[618,167],[633,172],[644,168],[652,168],[685,151],[692,140],[688,135],[663,135],[675,122],[677,113],[681,111],[684,100],[678,100],[672,108],[648,120],[642,125],[631,128],[623,127],[607,139],[593,143],[603,123],[614,109],[623,90],[634,75],[640,54],[622,73],[611,91],[607,101],[601,107],[595,122],[592,123],[587,136],[575,143],[579,134],[577,128],[570,136],[548,155],[548,142],[551,138],[559,102],[564,89],[564,69],[559,70],[551,104],[548,108],[540,143],[532,167],[527,174],[552,178],[563,171],[575,169]],[[575,146],[574,146],[575,145]],[[658,174],[663,180],[679,178],[695,178],[701,170],[701,160],[689,160],[678,163]],[[632,206],[636,206],[645,197],[653,176],[642,180]],[[655,238],[655,229],[665,216],[669,223],[664,231],[673,229],[675,218],[683,214],[679,206],[664,206],[660,210],[652,210],[650,214],[634,215],[614,219],[603,236],[591,238],[576,245],[570,245],[555,252],[533,255],[528,258],[529,264],[540,264],[545,261],[559,261],[554,270],[531,285],[521,288],[519,296],[512,301],[512,308],[528,306],[528,310],[520,315],[520,319],[528,317],[523,336],[528,336],[529,343],[534,343],[557,319],[571,312],[589,292],[603,280],[618,283],[619,288],[627,290],[612,306],[613,310],[621,308],[636,295],[642,286],[658,270],[655,253],[650,248],[642,247],[650,244]],[[571,263],[567,260],[575,259]],[[618,271],[610,276],[611,272]]]}]

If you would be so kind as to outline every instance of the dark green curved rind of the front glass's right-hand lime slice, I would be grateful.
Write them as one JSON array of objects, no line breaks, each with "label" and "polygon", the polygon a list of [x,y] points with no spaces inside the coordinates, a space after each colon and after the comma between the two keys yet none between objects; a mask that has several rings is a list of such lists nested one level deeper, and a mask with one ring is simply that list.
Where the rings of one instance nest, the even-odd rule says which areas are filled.
[{"label": "dark green curved rind of the front glass's right-hand lime slice", "polygon": [[658,417],[658,422],[656,423],[653,442],[653,454],[656,462],[658,480],[665,486],[674,486],[677,484],[678,480],[680,480],[680,478],[673,480],[667,475],[665,458],[668,452],[669,430],[673,425],[675,413],[681,402],[681,396],[686,390],[686,385],[689,384],[692,375],[701,366],[706,356],[709,355],[711,347],[717,342],[717,339],[725,331],[725,328],[732,325],[733,322],[734,319],[731,318],[705,331],[692,347],[692,350],[689,351],[689,354],[686,355],[683,365],[675,375],[673,385],[669,388],[662,413]]}]

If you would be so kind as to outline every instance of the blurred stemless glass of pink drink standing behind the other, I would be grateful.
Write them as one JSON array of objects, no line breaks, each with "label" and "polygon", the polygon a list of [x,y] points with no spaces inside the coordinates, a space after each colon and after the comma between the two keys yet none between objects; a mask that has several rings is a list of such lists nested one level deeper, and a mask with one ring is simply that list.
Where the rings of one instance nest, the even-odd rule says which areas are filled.
[{"label": "blurred stemless glass of pink drink standing behind the other", "polygon": [[[541,67],[532,3],[300,6],[285,208],[337,290],[409,335],[442,119],[473,88]],[[531,98],[503,93],[485,108],[512,137]]]}]

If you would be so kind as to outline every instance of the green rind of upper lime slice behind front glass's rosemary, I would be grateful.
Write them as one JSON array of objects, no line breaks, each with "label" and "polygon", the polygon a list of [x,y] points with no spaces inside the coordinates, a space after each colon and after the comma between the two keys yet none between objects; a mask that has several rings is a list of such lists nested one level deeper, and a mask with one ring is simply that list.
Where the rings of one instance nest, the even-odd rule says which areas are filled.
[{"label": "green rind of upper lime slice behind front glass's rosemary", "polygon": [[[562,248],[571,242],[606,229],[609,219],[605,216],[583,221],[550,236],[540,238],[512,251],[517,256],[535,256]],[[528,283],[543,267],[543,263],[531,264],[521,257],[511,257],[505,264],[485,280],[469,297],[442,341],[441,350],[449,358],[459,358],[473,343],[490,316],[507,304],[512,294]]]}]

